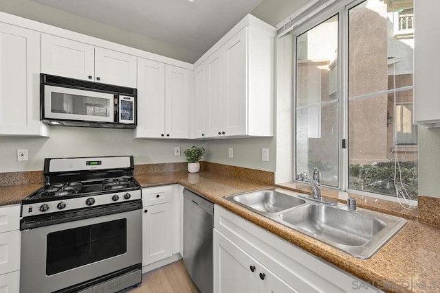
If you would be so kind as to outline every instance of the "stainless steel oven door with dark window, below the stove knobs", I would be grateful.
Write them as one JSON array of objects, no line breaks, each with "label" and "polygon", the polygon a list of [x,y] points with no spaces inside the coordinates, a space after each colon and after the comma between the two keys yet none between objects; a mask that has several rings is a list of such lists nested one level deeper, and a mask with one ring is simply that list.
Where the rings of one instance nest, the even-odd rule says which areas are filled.
[{"label": "stainless steel oven door with dark window, below the stove knobs", "polygon": [[[85,218],[85,214],[87,210],[78,214],[81,220],[22,231],[20,292],[54,292],[87,282],[93,285],[94,279],[140,267],[142,209],[93,218]],[[117,283],[109,285],[117,287]],[[116,289],[130,285],[134,284]]]}]

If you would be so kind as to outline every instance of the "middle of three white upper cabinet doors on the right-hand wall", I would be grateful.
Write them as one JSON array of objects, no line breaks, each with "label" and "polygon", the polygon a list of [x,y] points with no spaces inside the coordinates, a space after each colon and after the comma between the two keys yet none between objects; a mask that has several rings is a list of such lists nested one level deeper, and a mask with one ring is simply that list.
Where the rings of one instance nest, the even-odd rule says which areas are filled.
[{"label": "middle of three white upper cabinet doors on the right-hand wall", "polygon": [[217,50],[206,61],[207,66],[207,114],[206,135],[218,137],[223,130],[223,73],[224,55],[222,50]]}]

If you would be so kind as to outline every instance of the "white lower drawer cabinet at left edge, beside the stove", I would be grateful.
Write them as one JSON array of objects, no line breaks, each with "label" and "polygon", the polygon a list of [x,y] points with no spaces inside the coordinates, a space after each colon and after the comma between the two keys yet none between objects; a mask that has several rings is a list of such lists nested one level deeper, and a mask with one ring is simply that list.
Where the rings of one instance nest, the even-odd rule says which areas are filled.
[{"label": "white lower drawer cabinet at left edge, beside the stove", "polygon": [[0,292],[19,292],[21,244],[19,221],[19,204],[0,207]]}]

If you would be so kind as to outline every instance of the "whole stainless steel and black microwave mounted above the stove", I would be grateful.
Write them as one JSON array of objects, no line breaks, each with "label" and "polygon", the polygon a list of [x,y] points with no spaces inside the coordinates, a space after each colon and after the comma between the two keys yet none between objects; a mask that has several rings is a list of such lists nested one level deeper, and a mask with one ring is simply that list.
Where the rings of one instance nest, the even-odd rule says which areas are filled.
[{"label": "whole stainless steel and black microwave mounted above the stove", "polygon": [[40,119],[45,124],[136,127],[136,89],[44,73],[40,80]]}]

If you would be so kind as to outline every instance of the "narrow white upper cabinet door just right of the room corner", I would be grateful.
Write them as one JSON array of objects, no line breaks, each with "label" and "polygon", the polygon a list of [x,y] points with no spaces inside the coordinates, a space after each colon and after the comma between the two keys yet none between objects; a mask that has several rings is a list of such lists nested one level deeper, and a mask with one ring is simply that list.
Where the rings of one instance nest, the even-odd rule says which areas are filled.
[{"label": "narrow white upper cabinet door just right of the room corner", "polygon": [[191,107],[192,132],[195,138],[205,137],[206,130],[206,62],[203,62],[194,71],[194,101]]}]

